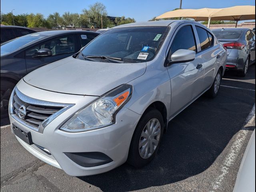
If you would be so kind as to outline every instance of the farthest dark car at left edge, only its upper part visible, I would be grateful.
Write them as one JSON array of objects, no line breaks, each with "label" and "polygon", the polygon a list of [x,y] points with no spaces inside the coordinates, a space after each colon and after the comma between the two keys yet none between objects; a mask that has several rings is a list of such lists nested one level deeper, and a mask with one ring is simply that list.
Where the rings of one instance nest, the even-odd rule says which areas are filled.
[{"label": "farthest dark car at left edge, only its upper part visible", "polygon": [[1,25],[1,43],[35,32],[26,27]]}]

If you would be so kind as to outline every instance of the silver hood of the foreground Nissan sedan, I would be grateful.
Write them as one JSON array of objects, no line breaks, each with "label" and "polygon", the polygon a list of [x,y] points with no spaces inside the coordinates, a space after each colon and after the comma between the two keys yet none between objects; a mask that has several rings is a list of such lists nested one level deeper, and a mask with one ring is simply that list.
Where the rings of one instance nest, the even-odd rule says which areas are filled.
[{"label": "silver hood of the foreground Nissan sedan", "polygon": [[106,63],[71,57],[43,66],[26,75],[26,83],[65,94],[101,96],[143,75],[143,63]]}]

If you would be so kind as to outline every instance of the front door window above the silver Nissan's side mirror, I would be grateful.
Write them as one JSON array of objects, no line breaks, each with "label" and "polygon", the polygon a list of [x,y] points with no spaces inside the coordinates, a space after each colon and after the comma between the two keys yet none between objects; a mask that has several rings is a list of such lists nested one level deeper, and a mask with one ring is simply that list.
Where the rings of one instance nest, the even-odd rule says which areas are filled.
[{"label": "front door window above the silver Nissan's side mirror", "polygon": [[170,47],[168,60],[170,60],[171,55],[179,49],[196,51],[196,41],[191,25],[186,25],[180,28],[180,30],[176,33]]}]

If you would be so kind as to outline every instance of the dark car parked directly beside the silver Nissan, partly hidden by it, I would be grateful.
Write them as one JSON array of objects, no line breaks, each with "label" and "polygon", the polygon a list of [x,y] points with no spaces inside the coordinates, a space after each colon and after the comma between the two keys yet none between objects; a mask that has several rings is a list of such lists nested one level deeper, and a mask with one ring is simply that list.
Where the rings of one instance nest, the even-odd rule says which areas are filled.
[{"label": "dark car parked directly beside the silver Nissan, partly hidden by it", "polygon": [[74,55],[98,35],[82,30],[54,30],[2,43],[1,118],[8,116],[10,94],[22,77],[41,66]]}]

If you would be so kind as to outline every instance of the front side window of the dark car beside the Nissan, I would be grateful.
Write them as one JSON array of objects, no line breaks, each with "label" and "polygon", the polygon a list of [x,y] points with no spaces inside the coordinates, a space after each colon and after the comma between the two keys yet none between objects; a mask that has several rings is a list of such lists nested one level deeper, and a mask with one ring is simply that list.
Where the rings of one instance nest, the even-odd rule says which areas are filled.
[{"label": "front side window of the dark car beside the Nissan", "polygon": [[51,40],[45,41],[38,44],[28,50],[26,50],[26,56],[33,56],[38,50],[42,48],[47,48],[52,51],[52,56],[58,54],[72,53],[76,52],[75,49],[75,36],[66,35]]}]

